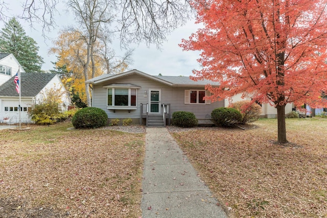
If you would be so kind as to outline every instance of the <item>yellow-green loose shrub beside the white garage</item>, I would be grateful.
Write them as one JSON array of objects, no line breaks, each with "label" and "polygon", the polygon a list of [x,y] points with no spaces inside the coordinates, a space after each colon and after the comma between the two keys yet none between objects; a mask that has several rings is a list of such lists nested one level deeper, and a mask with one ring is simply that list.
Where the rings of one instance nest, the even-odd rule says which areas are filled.
[{"label": "yellow-green loose shrub beside the white garage", "polygon": [[61,120],[61,111],[58,103],[34,105],[28,112],[31,119],[39,125],[51,125]]}]

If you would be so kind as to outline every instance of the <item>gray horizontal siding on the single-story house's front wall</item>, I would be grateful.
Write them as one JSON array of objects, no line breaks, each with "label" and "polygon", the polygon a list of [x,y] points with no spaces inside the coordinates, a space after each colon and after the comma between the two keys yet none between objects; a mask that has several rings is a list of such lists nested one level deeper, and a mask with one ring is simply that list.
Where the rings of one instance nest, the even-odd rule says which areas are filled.
[{"label": "gray horizontal siding on the single-story house's front wall", "polygon": [[[108,110],[107,109],[107,88],[102,86],[110,85],[113,83],[131,83],[137,86],[141,86],[141,89],[137,89],[137,110]],[[198,119],[205,119],[211,117],[213,109],[218,107],[224,107],[224,102],[213,102],[209,105],[204,104],[184,104],[184,90],[201,88],[195,87],[171,87],[154,80],[139,76],[129,75],[127,77],[118,78],[116,80],[110,80],[107,83],[96,85],[94,87],[93,106],[101,108],[108,114],[108,118],[139,118],[141,116],[141,103],[149,102],[149,89],[161,89],[161,103],[171,104],[171,114],[175,111],[190,111],[195,114]],[[204,87],[202,88],[204,89]],[[144,91],[147,91],[147,96],[144,96]]]}]

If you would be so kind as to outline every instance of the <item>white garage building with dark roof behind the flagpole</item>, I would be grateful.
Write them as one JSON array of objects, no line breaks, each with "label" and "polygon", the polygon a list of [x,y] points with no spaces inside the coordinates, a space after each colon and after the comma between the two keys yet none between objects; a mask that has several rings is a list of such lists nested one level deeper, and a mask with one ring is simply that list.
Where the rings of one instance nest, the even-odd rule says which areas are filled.
[{"label": "white garage building with dark roof behind the flagpole", "polygon": [[[60,90],[62,110],[67,110],[70,98],[57,74],[20,72],[20,122],[31,123],[29,108],[42,102],[50,89]],[[0,123],[19,123],[19,94],[15,89],[14,75],[0,86]]]}]

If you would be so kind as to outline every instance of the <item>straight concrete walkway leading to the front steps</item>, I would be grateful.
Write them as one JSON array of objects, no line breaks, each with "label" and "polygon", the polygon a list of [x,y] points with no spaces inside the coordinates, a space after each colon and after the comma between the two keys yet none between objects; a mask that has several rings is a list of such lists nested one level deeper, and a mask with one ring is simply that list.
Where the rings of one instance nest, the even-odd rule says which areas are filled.
[{"label": "straight concrete walkway leading to the front steps", "polygon": [[227,217],[166,128],[147,128],[142,218]]}]

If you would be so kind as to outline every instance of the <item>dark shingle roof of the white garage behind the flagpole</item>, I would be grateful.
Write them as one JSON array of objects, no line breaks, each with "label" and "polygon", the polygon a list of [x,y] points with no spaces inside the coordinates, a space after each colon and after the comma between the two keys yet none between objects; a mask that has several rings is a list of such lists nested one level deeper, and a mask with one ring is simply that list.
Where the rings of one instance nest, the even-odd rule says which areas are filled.
[{"label": "dark shingle roof of the white garage behind the flagpole", "polygon": [[[35,97],[48,84],[56,74],[42,74],[40,72],[21,72],[20,85],[22,97]],[[14,77],[0,86],[0,96],[15,96],[16,92]]]}]

